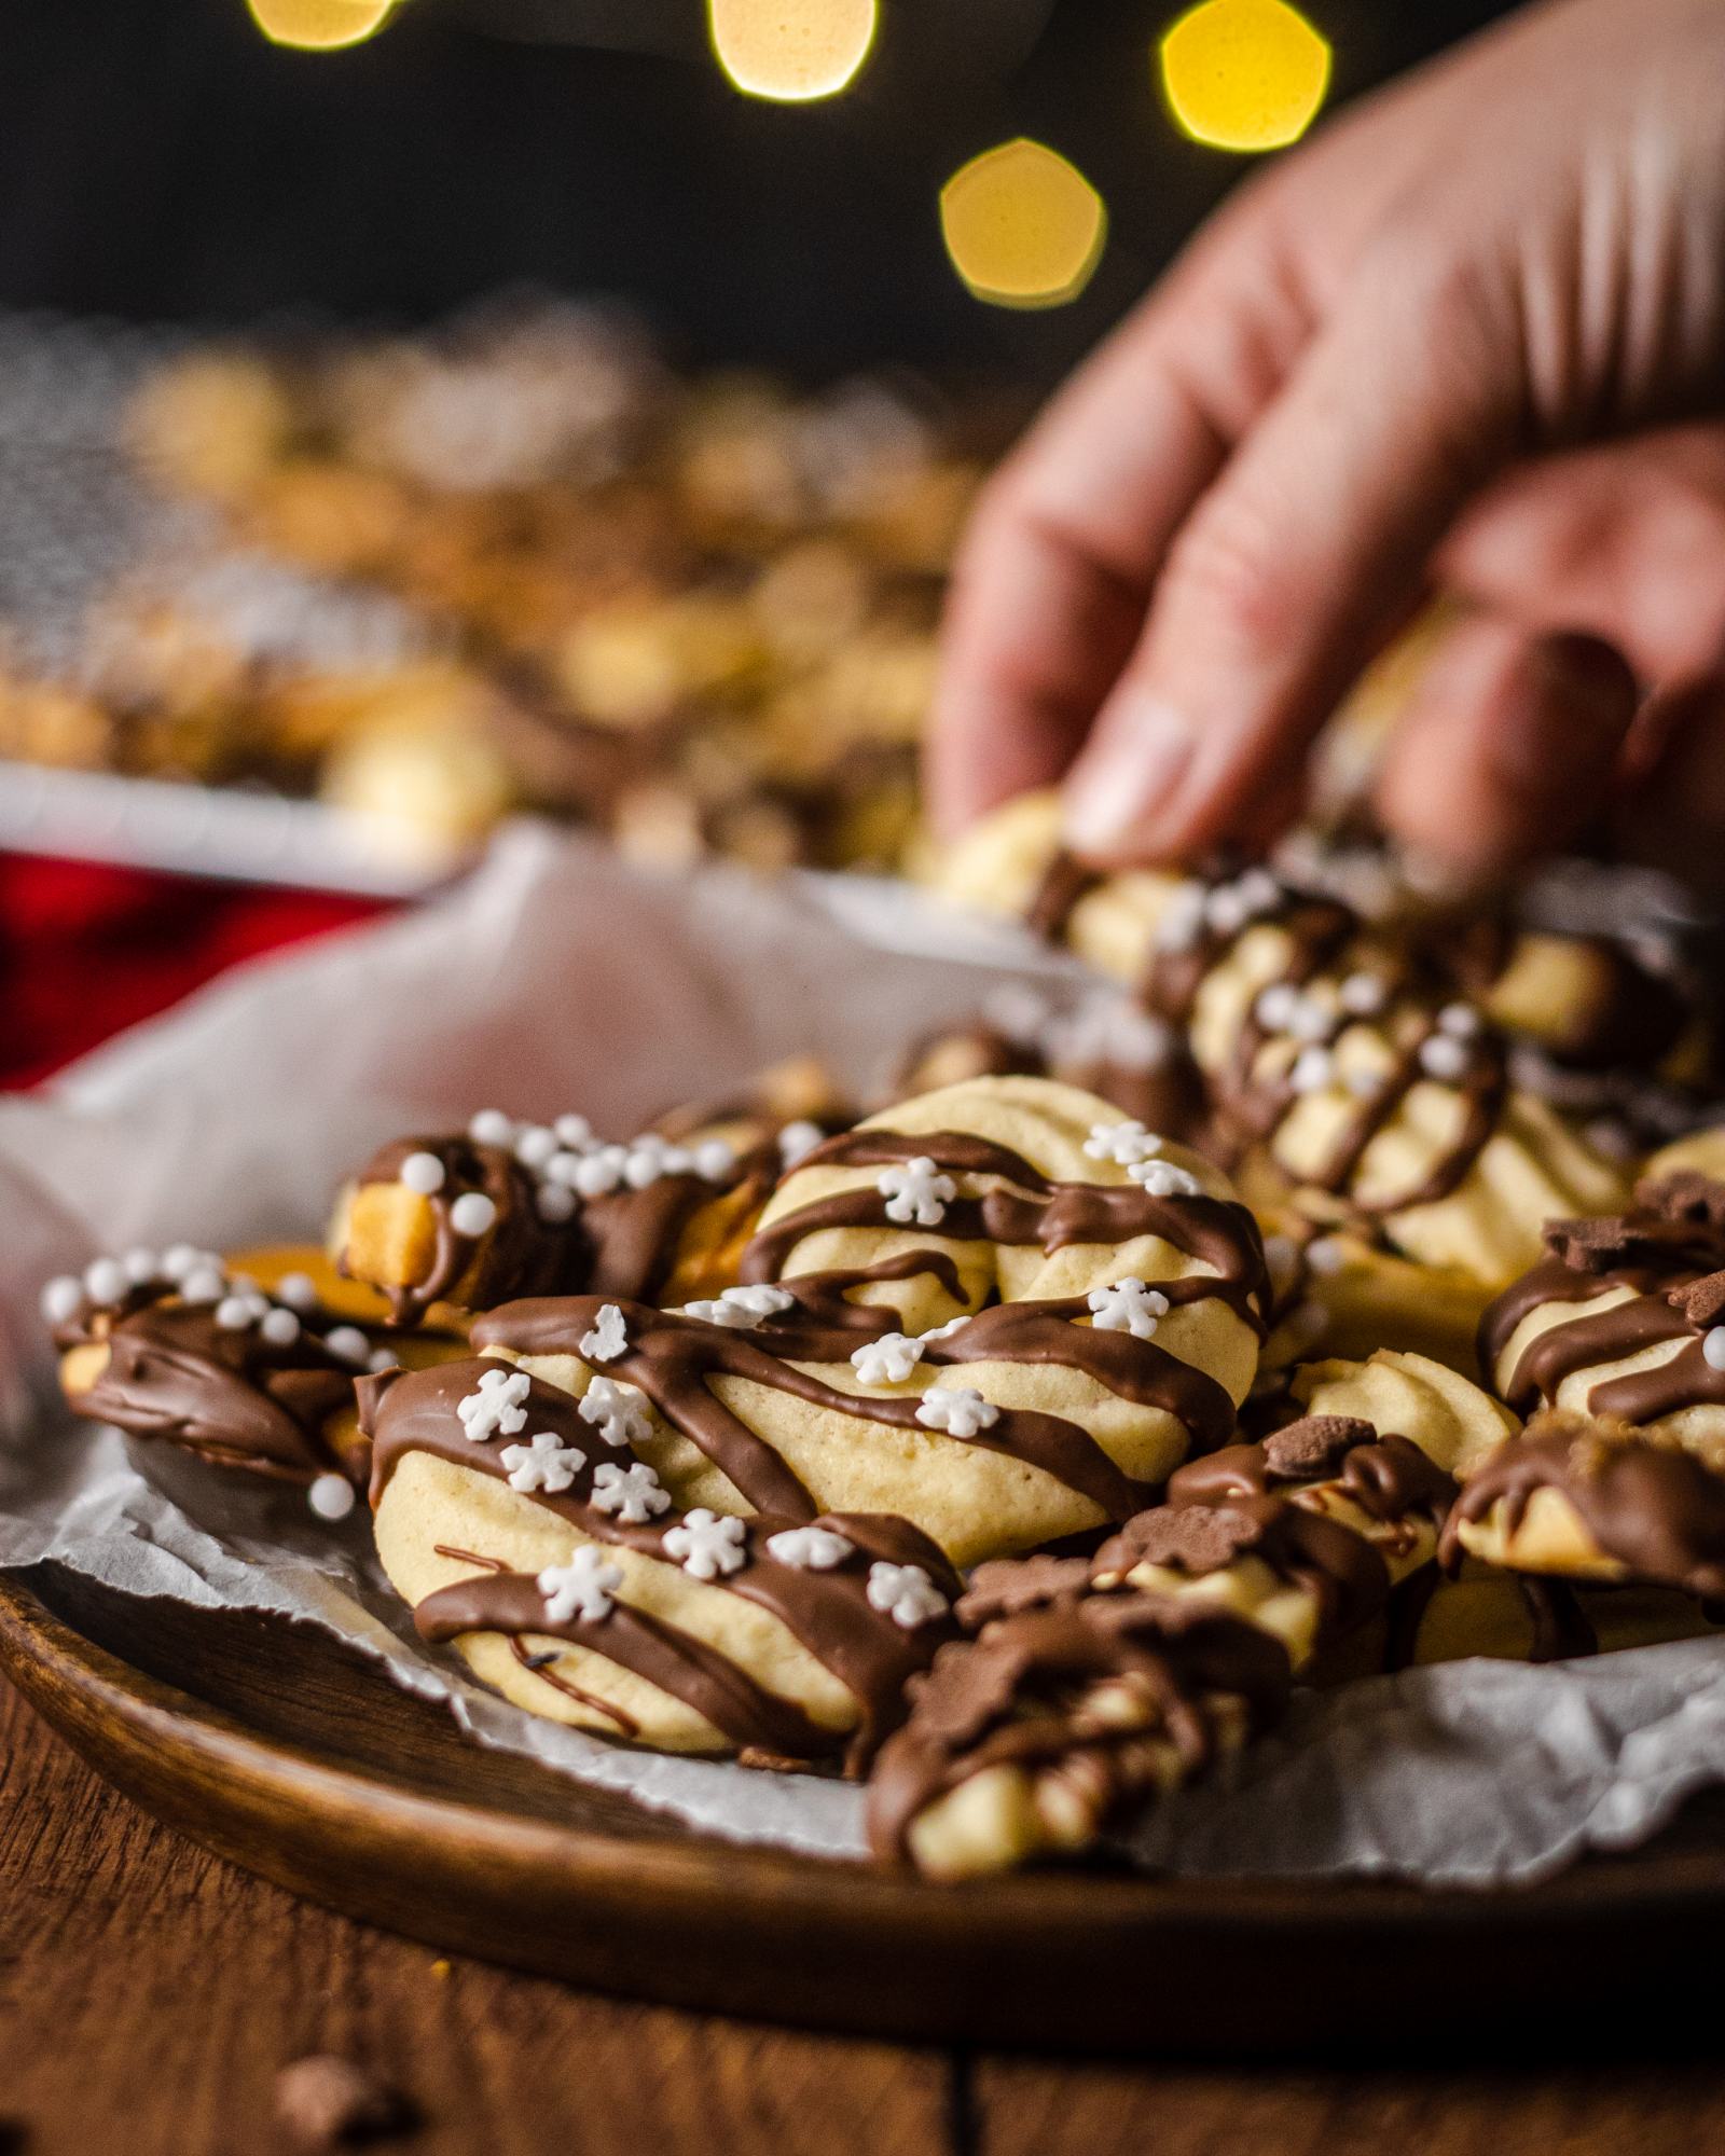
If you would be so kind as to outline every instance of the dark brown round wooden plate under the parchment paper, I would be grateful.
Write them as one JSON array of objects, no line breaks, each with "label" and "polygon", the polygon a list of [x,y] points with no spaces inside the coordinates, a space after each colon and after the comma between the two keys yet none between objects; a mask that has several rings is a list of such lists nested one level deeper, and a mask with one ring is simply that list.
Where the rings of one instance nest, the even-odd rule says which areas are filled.
[{"label": "dark brown round wooden plate under the parchment paper", "polygon": [[[1162,1882],[970,1887],[690,1833],[481,1753],[334,1641],[0,1576],[0,1669],[147,1811],[332,1908],[671,2005],[1087,2050],[1524,2053],[1675,1994],[1725,1919],[1725,1805],[1520,1893]],[[1622,2022],[1617,2024],[1622,2027]],[[1675,2029],[1667,2029],[1675,2035]]]}]

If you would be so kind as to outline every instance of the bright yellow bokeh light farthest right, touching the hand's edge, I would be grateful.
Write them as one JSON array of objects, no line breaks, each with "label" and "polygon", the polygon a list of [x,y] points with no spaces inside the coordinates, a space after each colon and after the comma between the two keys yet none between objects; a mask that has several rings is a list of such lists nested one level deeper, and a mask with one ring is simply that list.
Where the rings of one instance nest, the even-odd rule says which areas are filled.
[{"label": "bright yellow bokeh light farthest right, touching the hand's edge", "polygon": [[1162,93],[1214,149],[1285,149],[1317,119],[1330,45],[1287,0],[1203,0],[1162,39]]}]

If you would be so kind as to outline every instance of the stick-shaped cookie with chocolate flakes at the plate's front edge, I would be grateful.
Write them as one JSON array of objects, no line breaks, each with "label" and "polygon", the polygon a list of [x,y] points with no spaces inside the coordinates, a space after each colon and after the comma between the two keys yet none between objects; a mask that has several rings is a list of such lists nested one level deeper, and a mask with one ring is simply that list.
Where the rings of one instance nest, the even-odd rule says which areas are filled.
[{"label": "stick-shaped cookie with chocolate flakes at the plate's front edge", "polygon": [[1292,1675],[1430,1567],[1451,1466],[1501,1427],[1484,1397],[1466,1416],[1421,1397],[1432,1369],[1326,1365],[1313,1386],[1410,1406],[1423,1442],[1320,1410],[1179,1468],[1091,1559],[977,1567],[972,1643],[942,1649],[882,1753],[878,1854],[960,1876],[1072,1852],[1261,1729]]}]

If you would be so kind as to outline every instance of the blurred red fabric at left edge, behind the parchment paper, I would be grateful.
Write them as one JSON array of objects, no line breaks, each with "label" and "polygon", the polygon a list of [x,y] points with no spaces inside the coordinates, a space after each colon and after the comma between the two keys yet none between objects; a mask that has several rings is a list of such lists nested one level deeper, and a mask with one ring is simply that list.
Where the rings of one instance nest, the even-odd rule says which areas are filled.
[{"label": "blurred red fabric at left edge, behind the parchment paper", "polygon": [[0,1087],[26,1087],[239,959],[386,910],[0,854]]}]

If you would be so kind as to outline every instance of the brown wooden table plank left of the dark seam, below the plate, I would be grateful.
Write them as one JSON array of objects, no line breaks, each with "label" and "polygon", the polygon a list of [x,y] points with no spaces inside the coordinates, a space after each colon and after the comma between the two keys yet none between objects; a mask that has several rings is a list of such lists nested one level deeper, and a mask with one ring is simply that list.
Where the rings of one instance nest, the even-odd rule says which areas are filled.
[{"label": "brown wooden table plank left of the dark seam, below the plate", "polygon": [[617,2005],[326,1915],[155,1826],[0,1682],[0,2124],[28,2156],[270,2150],[274,2076],[315,2050],[414,2100],[414,2156],[947,2147],[938,2053]]}]

